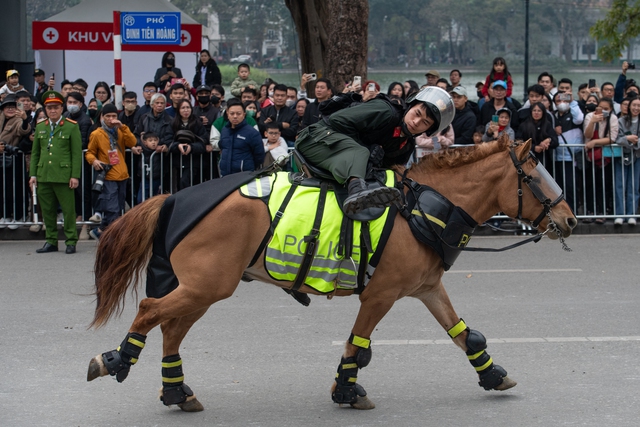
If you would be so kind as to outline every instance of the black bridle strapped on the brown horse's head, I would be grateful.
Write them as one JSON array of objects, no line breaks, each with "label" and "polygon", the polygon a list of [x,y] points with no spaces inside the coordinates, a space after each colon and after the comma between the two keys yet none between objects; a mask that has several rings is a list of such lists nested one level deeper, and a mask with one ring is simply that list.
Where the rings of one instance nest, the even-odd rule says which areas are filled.
[{"label": "black bridle strapped on the brown horse's head", "polygon": [[[545,235],[549,231],[555,232],[556,235],[558,236],[558,239],[560,240],[560,243],[562,243],[562,249],[564,249],[565,251],[571,251],[571,248],[569,248],[565,243],[564,237],[562,237],[562,232],[560,231],[560,228],[558,227],[556,222],[553,220],[553,218],[551,218],[551,209],[555,207],[558,203],[560,203],[562,200],[564,200],[564,193],[562,192],[558,184],[553,180],[551,175],[549,175],[546,169],[544,169],[544,166],[542,166],[542,164],[538,161],[538,158],[534,156],[531,151],[529,151],[529,154],[527,155],[527,157],[525,157],[524,160],[520,161],[516,156],[515,148],[511,147],[511,149],[509,150],[509,156],[511,157],[513,166],[515,166],[516,171],[518,173],[518,215],[515,218],[519,221],[527,222],[531,225],[531,227],[537,229],[540,223],[542,222],[542,220],[545,217],[547,217],[549,220],[549,225],[541,235]],[[552,197],[555,197],[555,199],[552,199],[551,197],[549,197],[549,195],[545,193],[542,187],[538,185],[538,180],[534,178],[532,174],[527,174],[525,173],[524,169],[522,169],[522,165],[527,163],[529,159],[533,159],[533,161],[535,162],[536,166],[533,170],[538,172],[537,173],[538,180],[542,179],[546,183],[550,184],[551,187],[557,188],[557,190],[555,191],[556,194],[552,196]],[[531,190],[535,198],[538,199],[538,201],[542,205],[542,212],[540,212],[537,218],[533,221],[522,217],[522,196],[523,196],[522,183],[523,182],[527,185],[527,187],[529,187],[529,189]]]}]

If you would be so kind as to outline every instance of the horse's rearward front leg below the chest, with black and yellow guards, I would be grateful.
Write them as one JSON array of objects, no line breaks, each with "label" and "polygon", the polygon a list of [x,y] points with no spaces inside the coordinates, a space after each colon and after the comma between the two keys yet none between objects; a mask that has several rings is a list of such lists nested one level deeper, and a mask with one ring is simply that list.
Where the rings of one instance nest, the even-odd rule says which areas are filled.
[{"label": "horse's rearward front leg below the chest, with black and yellow guards", "polygon": [[331,399],[338,404],[349,404],[356,409],[373,409],[375,404],[356,381],[358,370],[371,361],[371,333],[397,300],[397,290],[370,292],[360,296],[360,310],[345,351],[338,365]]}]

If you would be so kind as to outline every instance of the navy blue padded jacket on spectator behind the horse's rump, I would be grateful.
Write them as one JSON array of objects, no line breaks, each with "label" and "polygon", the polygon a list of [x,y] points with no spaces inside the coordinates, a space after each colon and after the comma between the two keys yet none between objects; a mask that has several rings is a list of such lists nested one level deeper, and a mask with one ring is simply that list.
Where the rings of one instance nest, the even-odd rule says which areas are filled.
[{"label": "navy blue padded jacket on spectator behind the horse's rump", "polygon": [[262,165],[264,145],[260,133],[243,120],[235,128],[227,123],[220,134],[220,175],[253,171]]}]

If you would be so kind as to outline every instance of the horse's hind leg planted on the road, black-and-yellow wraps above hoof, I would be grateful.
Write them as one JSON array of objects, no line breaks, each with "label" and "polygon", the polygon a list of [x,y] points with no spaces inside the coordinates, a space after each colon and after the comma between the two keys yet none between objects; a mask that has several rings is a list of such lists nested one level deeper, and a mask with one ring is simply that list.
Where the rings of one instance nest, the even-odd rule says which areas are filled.
[{"label": "horse's hind leg planted on the road, black-and-yellow wraps above hoof", "polygon": [[162,389],[160,400],[167,406],[178,405],[185,412],[204,410],[191,388],[184,383],[182,358],[179,354],[180,343],[208,310],[204,308],[188,316],[167,320],[160,325],[162,329]]}]

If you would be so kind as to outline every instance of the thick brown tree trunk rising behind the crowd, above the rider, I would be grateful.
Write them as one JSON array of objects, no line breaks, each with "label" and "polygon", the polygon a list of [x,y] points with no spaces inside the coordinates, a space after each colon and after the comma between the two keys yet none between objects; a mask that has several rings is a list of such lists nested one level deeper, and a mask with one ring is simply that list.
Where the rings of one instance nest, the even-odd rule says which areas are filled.
[{"label": "thick brown tree trunk rising behind the crowd, above the rider", "polygon": [[[367,77],[367,0],[285,0],[300,40],[303,73],[326,77],[342,91]],[[313,93],[313,92],[311,92]]]}]

